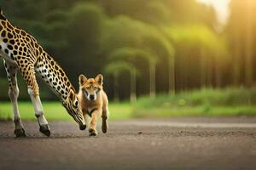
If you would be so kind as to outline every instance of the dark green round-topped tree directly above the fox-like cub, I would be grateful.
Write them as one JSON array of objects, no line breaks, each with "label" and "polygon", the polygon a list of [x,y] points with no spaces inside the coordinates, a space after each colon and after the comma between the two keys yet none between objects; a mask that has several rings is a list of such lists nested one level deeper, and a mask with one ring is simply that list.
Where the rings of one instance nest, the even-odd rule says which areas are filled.
[{"label": "dark green round-topped tree directly above the fox-like cub", "polygon": [[[70,74],[78,75],[86,71],[95,75],[102,68],[99,55],[104,20],[102,8],[94,3],[76,3],[70,9],[66,23],[68,46],[64,52],[65,56],[75,59],[61,58],[61,61],[65,60],[63,65],[70,70]],[[71,78],[73,81],[76,79]]]}]

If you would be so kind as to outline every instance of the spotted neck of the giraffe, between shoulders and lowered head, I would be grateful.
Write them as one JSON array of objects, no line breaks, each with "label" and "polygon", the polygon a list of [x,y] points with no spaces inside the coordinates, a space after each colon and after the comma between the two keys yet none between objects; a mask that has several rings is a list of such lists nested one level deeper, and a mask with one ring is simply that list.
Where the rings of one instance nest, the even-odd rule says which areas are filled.
[{"label": "spotted neck of the giraffe, between shoulders and lowered head", "polygon": [[61,66],[46,52],[40,55],[36,71],[62,101],[67,99],[71,89],[75,92],[73,85],[68,80],[66,73],[61,69]]}]

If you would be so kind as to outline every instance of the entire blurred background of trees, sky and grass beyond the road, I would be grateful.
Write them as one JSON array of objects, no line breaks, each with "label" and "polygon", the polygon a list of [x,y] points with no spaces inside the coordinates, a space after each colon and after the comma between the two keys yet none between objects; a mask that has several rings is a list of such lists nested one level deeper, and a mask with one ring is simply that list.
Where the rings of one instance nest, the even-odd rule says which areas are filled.
[{"label": "entire blurred background of trees, sky and grass beyond the road", "polygon": [[[76,89],[80,73],[102,73],[113,119],[256,115],[255,0],[0,0],[0,6]],[[0,62],[6,118],[12,111]],[[19,79],[22,116],[33,111]],[[67,115],[38,82],[45,112]]]}]

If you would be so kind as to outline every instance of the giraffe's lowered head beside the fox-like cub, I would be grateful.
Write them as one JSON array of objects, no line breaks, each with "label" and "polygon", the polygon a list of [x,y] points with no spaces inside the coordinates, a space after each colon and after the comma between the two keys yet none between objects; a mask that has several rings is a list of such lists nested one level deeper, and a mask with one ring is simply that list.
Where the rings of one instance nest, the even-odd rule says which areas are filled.
[{"label": "giraffe's lowered head beside the fox-like cub", "polygon": [[62,105],[66,108],[68,114],[73,117],[75,122],[79,123],[80,130],[84,130],[86,128],[84,116],[80,108],[78,96],[73,89],[70,90],[67,99],[63,101]]}]

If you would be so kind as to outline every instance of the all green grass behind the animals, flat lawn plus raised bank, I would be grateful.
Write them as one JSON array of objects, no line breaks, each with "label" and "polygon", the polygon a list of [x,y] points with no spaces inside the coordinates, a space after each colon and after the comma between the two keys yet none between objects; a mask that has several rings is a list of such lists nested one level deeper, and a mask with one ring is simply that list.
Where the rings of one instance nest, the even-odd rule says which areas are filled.
[{"label": "all green grass behind the animals, flat lawn plus raised bank", "polygon": [[[60,102],[43,102],[45,116],[51,120],[70,121],[72,117]],[[31,102],[19,102],[20,116],[35,120]],[[176,95],[142,97],[134,104],[110,103],[110,119],[172,116],[256,116],[256,88],[201,89]],[[0,102],[0,119],[13,117],[10,102]]]}]

